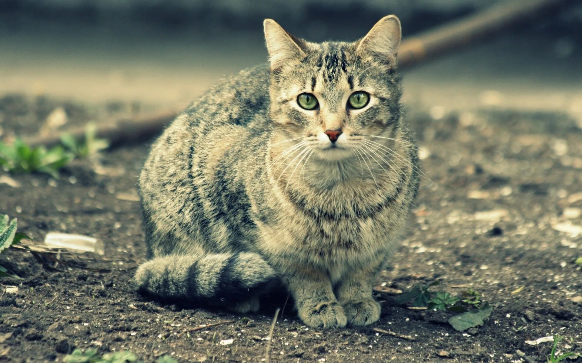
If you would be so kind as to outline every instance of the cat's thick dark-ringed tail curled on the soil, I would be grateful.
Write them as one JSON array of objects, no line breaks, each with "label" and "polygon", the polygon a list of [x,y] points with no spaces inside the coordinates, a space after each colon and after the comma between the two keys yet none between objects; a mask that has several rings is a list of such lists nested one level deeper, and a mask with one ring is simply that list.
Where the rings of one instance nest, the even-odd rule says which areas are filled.
[{"label": "cat's thick dark-ringed tail curled on the soil", "polygon": [[156,257],[141,264],[134,278],[141,292],[225,306],[257,299],[276,279],[274,269],[251,252]]}]

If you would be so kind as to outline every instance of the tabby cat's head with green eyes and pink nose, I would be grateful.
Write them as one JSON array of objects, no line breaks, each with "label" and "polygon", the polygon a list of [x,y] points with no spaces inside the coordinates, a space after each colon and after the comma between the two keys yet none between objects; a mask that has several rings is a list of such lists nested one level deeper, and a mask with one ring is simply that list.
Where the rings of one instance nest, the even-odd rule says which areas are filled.
[{"label": "tabby cat's head with green eyes and pink nose", "polygon": [[280,141],[304,142],[321,159],[339,160],[354,156],[367,146],[364,140],[374,140],[398,123],[398,17],[382,18],[352,43],[307,42],[271,19],[264,28],[271,118],[283,135]]}]

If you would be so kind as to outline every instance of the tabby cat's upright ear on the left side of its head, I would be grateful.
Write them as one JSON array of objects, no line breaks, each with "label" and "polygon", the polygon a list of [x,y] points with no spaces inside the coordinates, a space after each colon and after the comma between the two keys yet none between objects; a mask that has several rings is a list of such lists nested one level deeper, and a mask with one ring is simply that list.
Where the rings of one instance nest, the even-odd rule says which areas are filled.
[{"label": "tabby cat's upright ear on the left side of its head", "polygon": [[290,60],[300,59],[305,55],[301,49],[303,45],[301,40],[287,33],[275,20],[265,19],[262,24],[271,70],[277,71]]}]

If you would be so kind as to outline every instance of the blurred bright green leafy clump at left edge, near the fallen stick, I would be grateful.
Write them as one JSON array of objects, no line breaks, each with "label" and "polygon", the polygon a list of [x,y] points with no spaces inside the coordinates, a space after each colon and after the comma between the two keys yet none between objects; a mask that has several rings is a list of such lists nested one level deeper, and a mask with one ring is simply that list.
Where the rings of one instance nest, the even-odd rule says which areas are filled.
[{"label": "blurred bright green leafy clump at left edge, near the fallen stick", "polygon": [[57,178],[59,169],[73,159],[62,146],[47,150],[44,146],[31,148],[20,139],[12,144],[0,142],[0,167],[11,172],[44,172]]}]

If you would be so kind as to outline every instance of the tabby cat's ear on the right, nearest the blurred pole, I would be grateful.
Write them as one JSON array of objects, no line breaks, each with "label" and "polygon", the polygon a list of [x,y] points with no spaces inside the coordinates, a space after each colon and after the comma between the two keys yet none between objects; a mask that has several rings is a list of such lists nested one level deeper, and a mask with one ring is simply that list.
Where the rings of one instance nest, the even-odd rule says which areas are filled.
[{"label": "tabby cat's ear on the right, nearest the blurred pole", "polygon": [[356,52],[361,57],[371,56],[392,66],[396,64],[400,38],[402,38],[400,20],[396,15],[388,15],[380,19],[372,30],[360,39]]}]

